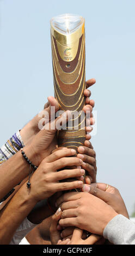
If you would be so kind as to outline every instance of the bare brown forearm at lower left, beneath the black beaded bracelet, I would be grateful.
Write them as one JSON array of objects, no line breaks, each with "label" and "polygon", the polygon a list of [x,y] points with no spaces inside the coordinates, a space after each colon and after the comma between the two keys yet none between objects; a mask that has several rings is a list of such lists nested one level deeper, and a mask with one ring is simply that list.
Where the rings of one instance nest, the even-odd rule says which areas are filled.
[{"label": "bare brown forearm at lower left, beneath the black beaded bracelet", "polygon": [[0,212],[0,244],[9,244],[16,229],[36,204],[26,184],[11,198]]}]

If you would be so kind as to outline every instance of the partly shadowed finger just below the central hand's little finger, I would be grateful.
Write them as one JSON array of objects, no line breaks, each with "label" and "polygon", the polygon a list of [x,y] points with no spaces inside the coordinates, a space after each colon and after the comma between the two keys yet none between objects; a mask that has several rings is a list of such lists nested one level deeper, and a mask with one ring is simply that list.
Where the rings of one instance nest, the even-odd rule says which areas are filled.
[{"label": "partly shadowed finger just below the central hand's little finger", "polygon": [[81,194],[79,192],[69,192],[63,194],[61,197],[59,197],[56,201],[56,207],[61,205],[64,202],[74,201],[81,198]]}]

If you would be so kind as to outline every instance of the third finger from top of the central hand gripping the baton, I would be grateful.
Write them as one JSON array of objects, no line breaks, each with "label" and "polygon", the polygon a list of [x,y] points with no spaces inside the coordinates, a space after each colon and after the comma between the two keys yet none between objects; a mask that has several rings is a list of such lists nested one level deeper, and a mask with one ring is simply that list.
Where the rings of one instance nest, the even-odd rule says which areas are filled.
[{"label": "third finger from top of the central hand gripping the baton", "polygon": [[60,170],[59,172],[55,173],[56,180],[65,180],[69,178],[75,178],[78,176],[82,176],[85,174],[84,169],[68,169],[68,170]]}]

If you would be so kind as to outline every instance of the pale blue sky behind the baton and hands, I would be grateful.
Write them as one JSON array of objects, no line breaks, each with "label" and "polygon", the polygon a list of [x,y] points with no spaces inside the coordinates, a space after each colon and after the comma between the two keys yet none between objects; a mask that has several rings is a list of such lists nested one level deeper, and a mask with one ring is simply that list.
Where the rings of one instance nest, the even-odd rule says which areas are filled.
[{"label": "pale blue sky behind the baton and hands", "polygon": [[50,19],[85,17],[86,78],[97,111],[97,181],[119,188],[128,211],[135,203],[135,2],[0,0],[0,145],[53,95]]}]

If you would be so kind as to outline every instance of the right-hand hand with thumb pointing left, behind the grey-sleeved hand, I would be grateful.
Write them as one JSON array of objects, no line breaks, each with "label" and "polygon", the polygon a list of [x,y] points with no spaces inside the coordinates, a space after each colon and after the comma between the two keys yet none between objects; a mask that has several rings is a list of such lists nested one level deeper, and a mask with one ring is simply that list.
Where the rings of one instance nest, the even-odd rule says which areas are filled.
[{"label": "right-hand hand with thumb pointing left, behind the grey-sleeved hand", "polygon": [[105,183],[93,183],[90,186],[84,185],[82,191],[94,194],[94,196],[102,199],[104,202],[110,205],[118,214],[129,218],[124,200],[122,199],[117,188]]}]

